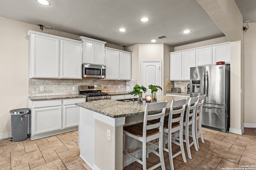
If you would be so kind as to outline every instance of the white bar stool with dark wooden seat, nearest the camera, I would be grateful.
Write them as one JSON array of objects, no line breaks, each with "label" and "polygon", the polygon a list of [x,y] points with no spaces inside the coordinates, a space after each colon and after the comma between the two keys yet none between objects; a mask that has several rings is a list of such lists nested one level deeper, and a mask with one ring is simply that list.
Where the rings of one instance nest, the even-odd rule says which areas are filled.
[{"label": "white bar stool with dark wooden seat, nearest the camera", "polygon": [[[164,151],[163,151],[163,125],[164,125],[164,115],[166,111],[166,105],[167,105],[167,101],[152,103],[152,104],[146,103],[143,123],[138,123],[135,125],[124,127],[124,135],[127,135],[129,137],[132,137],[142,142],[142,156],[140,157],[141,159],[137,158],[125,150],[124,150],[124,154],[134,159],[138,163],[142,164],[143,170],[147,169],[146,168],[147,167],[147,164],[146,164],[147,150],[150,150],[160,158],[160,162],[148,168],[148,170],[153,170],[158,166],[161,166],[162,170],[165,170]],[[150,110],[156,111],[160,109],[162,109],[160,113],[159,111],[157,113],[152,113],[152,111],[150,111]],[[157,121],[149,125],[147,122],[150,120],[157,120]],[[150,142],[155,139],[159,139],[158,145]],[[158,148],[159,152],[156,152],[156,150],[152,149],[150,145]]]}]

